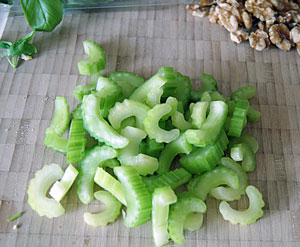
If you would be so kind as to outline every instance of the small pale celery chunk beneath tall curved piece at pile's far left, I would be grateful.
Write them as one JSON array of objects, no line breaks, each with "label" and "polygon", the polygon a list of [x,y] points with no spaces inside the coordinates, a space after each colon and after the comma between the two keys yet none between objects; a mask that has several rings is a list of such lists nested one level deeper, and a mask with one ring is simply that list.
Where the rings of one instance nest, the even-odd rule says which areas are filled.
[{"label": "small pale celery chunk beneath tall curved piece at pile's far left", "polygon": [[48,128],[46,130],[46,138],[44,140],[44,144],[54,152],[67,154],[68,139],[59,137],[53,129]]}]

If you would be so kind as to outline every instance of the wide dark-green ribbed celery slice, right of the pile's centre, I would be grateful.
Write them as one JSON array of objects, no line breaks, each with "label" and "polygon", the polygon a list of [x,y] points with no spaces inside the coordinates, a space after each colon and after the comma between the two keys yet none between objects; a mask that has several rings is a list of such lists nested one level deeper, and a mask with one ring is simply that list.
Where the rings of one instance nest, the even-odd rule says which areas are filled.
[{"label": "wide dark-green ribbed celery slice, right of the pile's centre", "polygon": [[195,148],[190,154],[183,155],[179,162],[192,174],[211,171],[224,155],[228,142],[227,135],[222,130],[215,144],[203,148]]}]

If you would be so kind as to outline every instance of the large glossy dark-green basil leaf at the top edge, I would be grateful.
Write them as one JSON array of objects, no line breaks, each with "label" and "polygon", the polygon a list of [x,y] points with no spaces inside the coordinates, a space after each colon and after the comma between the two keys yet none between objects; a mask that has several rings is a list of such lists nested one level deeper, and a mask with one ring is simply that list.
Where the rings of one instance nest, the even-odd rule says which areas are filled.
[{"label": "large glossy dark-green basil leaf at the top edge", "polygon": [[52,31],[62,20],[61,0],[21,0],[28,24],[36,31]]}]

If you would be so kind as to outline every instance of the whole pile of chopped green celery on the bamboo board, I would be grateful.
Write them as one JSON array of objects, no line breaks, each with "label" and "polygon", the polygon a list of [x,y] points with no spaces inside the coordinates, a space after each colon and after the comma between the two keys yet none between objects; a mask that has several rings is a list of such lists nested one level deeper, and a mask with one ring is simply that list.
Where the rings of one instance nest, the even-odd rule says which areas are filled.
[{"label": "whole pile of chopped green celery on the bamboo board", "polygon": [[[48,218],[62,215],[60,201],[76,181],[82,203],[96,198],[106,206],[86,212],[87,224],[112,223],[123,208],[127,227],[152,221],[157,246],[170,239],[182,244],[185,230],[200,229],[207,197],[222,201],[220,213],[233,224],[262,217],[262,195],[247,176],[255,169],[258,143],[244,132],[248,121],[260,117],[249,103],[254,87],[228,97],[211,75],[201,74],[203,87],[193,90],[189,77],[171,67],[148,80],[123,71],[105,77],[99,73],[106,64],[103,50],[91,41],[84,48],[89,58],[78,68],[92,82],[75,88],[80,102],[72,114],[66,99],[56,98],[45,138],[73,165],[65,171],[46,165],[35,173],[27,191],[33,210]],[[95,183],[102,189],[94,191]],[[242,195],[249,197],[249,208],[232,209],[227,201]]]}]

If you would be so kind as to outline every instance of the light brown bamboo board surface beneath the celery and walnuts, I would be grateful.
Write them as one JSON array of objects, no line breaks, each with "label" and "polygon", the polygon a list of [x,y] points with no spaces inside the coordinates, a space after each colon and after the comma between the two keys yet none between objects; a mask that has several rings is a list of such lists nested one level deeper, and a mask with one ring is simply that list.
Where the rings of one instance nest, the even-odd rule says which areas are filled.
[{"label": "light brown bamboo board surface beneath the celery and walnuts", "polygon": [[[15,40],[29,31],[24,18],[8,18],[3,39]],[[44,164],[66,167],[63,155],[43,145],[55,96],[66,96],[70,108],[76,85],[89,82],[78,75],[84,58],[82,41],[100,43],[108,58],[107,72],[127,70],[149,77],[162,66],[173,66],[200,87],[200,73],[212,74],[220,90],[254,85],[252,100],[262,112],[247,132],[260,148],[257,169],[249,183],[263,193],[264,217],[256,224],[231,225],[218,213],[218,202],[207,201],[201,230],[186,233],[186,246],[300,246],[300,57],[272,48],[256,52],[235,45],[227,31],[189,16],[184,6],[114,9],[67,15],[52,33],[34,39],[39,55],[17,70],[0,60],[0,246],[153,246],[151,225],[125,228],[122,220],[92,228],[83,213],[97,205],[80,204],[75,189],[63,200],[66,213],[49,220],[27,205],[28,181]],[[247,199],[233,204],[247,207]],[[6,219],[25,214],[14,223]],[[14,224],[21,224],[13,230]]]}]

